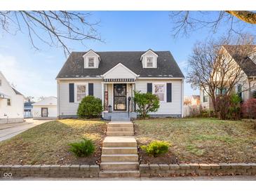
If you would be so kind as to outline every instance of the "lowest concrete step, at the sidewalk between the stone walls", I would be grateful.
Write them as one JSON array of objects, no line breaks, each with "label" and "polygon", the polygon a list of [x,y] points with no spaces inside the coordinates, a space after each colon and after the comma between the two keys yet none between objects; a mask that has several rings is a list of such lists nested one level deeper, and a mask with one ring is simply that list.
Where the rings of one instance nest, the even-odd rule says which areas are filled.
[{"label": "lowest concrete step, at the sidewalk between the stone walls", "polygon": [[100,177],[140,177],[139,170],[126,170],[126,171],[113,171],[104,170],[100,171]]}]

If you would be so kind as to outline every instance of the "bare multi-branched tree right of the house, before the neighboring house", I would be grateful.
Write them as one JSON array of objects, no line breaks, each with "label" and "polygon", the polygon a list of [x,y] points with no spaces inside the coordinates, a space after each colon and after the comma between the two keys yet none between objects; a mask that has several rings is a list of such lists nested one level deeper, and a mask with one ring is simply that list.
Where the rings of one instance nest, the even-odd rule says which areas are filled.
[{"label": "bare multi-branched tree right of the house, before the neighboring house", "polygon": [[[209,95],[215,112],[217,90],[221,95],[229,95],[238,83],[248,83],[239,64],[247,62],[248,55],[255,55],[253,43],[252,38],[222,38],[194,46],[189,57],[187,83]],[[234,60],[234,57],[239,57],[239,60]]]}]

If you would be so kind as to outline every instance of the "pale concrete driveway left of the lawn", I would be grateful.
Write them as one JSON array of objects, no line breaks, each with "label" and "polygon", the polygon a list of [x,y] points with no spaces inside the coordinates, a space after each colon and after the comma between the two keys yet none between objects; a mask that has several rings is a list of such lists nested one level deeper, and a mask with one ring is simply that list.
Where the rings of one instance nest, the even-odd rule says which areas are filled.
[{"label": "pale concrete driveway left of the lawn", "polygon": [[40,125],[42,123],[53,121],[53,120],[33,120],[32,118],[27,118],[25,122],[22,123],[7,123],[0,125],[0,142],[6,139],[10,139],[11,137],[24,132],[30,128],[33,128],[36,125]]}]

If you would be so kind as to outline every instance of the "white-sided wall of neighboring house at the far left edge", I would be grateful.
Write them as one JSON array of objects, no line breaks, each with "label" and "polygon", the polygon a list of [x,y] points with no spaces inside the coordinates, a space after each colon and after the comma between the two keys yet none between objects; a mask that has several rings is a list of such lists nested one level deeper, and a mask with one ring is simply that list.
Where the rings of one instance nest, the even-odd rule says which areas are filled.
[{"label": "white-sided wall of neighboring house at the far left edge", "polygon": [[[6,99],[0,98],[0,119],[5,118],[20,118],[23,121],[24,118],[24,97],[23,95],[16,95],[11,85],[8,83],[6,78],[0,72],[0,92],[8,95],[11,98],[11,106],[7,105]],[[6,114],[6,116],[5,116]],[[1,122],[1,121],[0,121]]]}]

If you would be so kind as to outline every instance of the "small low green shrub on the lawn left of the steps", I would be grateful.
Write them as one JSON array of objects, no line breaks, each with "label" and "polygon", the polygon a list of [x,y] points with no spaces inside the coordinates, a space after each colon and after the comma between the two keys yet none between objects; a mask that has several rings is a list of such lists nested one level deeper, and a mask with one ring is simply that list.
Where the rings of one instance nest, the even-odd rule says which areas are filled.
[{"label": "small low green shrub on the lawn left of the steps", "polygon": [[81,142],[74,142],[69,144],[69,146],[69,151],[77,157],[87,157],[95,151],[93,141],[85,138]]}]

